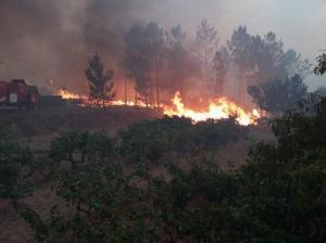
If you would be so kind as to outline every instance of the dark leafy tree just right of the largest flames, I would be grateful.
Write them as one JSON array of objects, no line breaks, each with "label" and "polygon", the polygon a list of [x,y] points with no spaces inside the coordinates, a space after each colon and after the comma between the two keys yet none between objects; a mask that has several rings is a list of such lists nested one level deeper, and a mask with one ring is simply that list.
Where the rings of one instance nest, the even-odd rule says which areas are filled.
[{"label": "dark leafy tree just right of the largest flames", "polygon": [[291,78],[269,80],[248,87],[253,103],[260,108],[278,115],[296,105],[308,93],[308,87],[299,75]]}]

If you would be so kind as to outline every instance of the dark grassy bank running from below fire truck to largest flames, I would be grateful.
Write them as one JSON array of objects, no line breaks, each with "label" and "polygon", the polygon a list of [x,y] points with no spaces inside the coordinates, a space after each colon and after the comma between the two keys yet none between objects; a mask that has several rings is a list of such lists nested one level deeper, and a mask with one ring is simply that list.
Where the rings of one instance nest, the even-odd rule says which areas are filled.
[{"label": "dark grassy bank running from below fire truck to largest flames", "polygon": [[142,119],[161,117],[153,110],[116,106],[105,110],[66,106],[35,112],[1,112],[0,136],[33,138],[64,130],[112,130]]}]

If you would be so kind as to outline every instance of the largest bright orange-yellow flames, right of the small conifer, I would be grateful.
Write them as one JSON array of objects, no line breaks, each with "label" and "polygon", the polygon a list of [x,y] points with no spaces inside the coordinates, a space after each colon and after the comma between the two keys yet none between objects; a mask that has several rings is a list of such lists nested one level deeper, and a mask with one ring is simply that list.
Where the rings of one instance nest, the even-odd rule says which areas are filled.
[{"label": "largest bright orange-yellow flames, right of the small conifer", "polygon": [[173,104],[175,107],[164,106],[165,115],[185,116],[192,118],[195,122],[202,122],[206,119],[225,119],[229,118],[230,116],[236,116],[236,120],[240,125],[248,126],[251,124],[256,124],[256,120],[261,117],[261,114],[258,110],[246,112],[227,98],[212,100],[208,111],[196,112],[191,108],[186,108],[180,98],[180,93],[176,92],[173,99]]}]

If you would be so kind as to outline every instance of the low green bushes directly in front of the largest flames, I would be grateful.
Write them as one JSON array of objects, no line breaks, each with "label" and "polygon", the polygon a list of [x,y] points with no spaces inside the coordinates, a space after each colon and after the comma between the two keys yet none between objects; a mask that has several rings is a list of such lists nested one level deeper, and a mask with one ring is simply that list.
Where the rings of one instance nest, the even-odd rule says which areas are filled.
[{"label": "low green bushes directly in front of the largest flames", "polygon": [[234,119],[208,120],[192,125],[188,118],[165,117],[142,122],[120,132],[121,152],[134,162],[159,162],[166,153],[215,150],[246,138],[247,129]]}]

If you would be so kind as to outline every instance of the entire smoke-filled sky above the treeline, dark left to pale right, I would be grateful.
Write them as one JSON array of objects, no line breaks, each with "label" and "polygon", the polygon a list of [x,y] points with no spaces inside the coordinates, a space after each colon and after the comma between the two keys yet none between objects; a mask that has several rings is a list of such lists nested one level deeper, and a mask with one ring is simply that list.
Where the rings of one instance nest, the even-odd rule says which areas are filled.
[{"label": "entire smoke-filled sky above the treeline, dark left to pale right", "polygon": [[98,51],[120,79],[122,34],[134,23],[151,21],[165,29],[181,24],[193,37],[206,17],[221,42],[239,25],[253,34],[274,30],[289,47],[314,57],[325,49],[323,38],[311,38],[321,34],[325,8],[323,0],[0,0],[0,79],[27,78],[49,89],[65,86],[85,93],[84,68],[91,53]]}]

